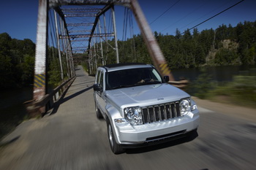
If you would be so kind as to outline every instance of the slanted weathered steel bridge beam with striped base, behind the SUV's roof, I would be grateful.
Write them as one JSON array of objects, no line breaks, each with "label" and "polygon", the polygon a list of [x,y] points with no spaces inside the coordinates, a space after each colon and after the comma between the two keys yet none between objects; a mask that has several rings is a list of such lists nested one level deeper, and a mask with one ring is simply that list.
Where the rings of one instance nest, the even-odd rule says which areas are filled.
[{"label": "slanted weathered steel bridge beam with striped base, behind the SUV's roof", "polygon": [[162,74],[162,76],[168,75],[171,81],[174,81],[173,74],[170,73],[170,69],[167,66],[167,62],[165,61],[165,57],[160,50],[160,47],[155,39],[151,28],[148,25],[148,22],[140,9],[140,5],[137,0],[130,0],[132,12],[135,15],[135,19],[140,27],[140,31],[143,35],[143,39],[146,42],[146,46],[148,48],[149,54],[151,55],[152,60],[154,61],[154,65],[157,70]]}]

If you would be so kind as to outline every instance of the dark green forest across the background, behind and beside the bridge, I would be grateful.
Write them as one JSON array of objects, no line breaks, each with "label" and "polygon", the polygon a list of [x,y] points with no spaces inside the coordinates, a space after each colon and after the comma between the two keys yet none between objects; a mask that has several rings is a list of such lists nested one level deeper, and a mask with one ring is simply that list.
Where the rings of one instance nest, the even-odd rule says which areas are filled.
[{"label": "dark green forest across the background, behind and beside the bridge", "polygon": [[[238,23],[237,26],[219,26],[192,33],[176,30],[176,35],[154,32],[170,69],[201,66],[253,65],[256,63],[256,21]],[[114,47],[114,41],[108,42]],[[107,45],[103,45],[107,47]],[[152,63],[141,34],[126,41],[118,41],[119,60],[125,62]],[[57,50],[48,47],[48,55]],[[113,49],[104,50],[106,63],[116,63]],[[99,52],[100,53],[100,52]],[[30,39],[12,39],[0,34],[0,88],[13,88],[33,84],[35,44]],[[100,56],[100,54],[96,55]],[[101,58],[97,64],[102,64]],[[48,59],[49,80],[60,81],[58,57]]]}]

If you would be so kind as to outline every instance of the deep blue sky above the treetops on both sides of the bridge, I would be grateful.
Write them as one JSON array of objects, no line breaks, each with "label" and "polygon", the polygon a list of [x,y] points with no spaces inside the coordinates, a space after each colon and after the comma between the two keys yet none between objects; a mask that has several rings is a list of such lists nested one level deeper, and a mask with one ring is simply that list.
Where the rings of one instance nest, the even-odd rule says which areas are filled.
[{"label": "deep blue sky above the treetops on both sides of the bridge", "polygon": [[[188,28],[211,18],[240,0],[138,0],[151,30],[161,34],[175,35],[176,29]],[[222,24],[236,26],[244,21],[256,20],[256,1],[244,0],[206,23],[197,26],[199,31],[218,28]],[[7,32],[12,39],[31,39],[37,36],[37,0],[5,0],[0,5],[0,34]],[[165,13],[164,13],[165,12]],[[161,15],[161,16],[160,16]],[[124,22],[124,8],[116,8],[118,39]],[[160,16],[160,17],[159,17]],[[157,20],[156,20],[157,19]],[[134,23],[136,23],[134,21]],[[135,34],[140,30],[135,24]],[[192,31],[191,31],[192,32]]]}]

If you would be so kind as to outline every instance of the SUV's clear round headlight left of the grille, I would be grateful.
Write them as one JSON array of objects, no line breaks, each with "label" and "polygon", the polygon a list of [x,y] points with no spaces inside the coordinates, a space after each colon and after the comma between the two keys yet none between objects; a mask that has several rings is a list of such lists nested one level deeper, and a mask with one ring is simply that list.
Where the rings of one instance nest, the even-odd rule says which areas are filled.
[{"label": "SUV's clear round headlight left of the grille", "polygon": [[127,107],[124,109],[124,115],[131,125],[143,124],[140,107]]}]

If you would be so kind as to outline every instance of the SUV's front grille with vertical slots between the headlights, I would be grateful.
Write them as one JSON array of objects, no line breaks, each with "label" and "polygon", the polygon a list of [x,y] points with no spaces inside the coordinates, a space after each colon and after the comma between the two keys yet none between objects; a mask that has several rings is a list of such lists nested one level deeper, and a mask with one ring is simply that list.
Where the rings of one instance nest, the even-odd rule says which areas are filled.
[{"label": "SUV's front grille with vertical slots between the headlights", "polygon": [[143,123],[154,123],[181,116],[179,101],[142,107]]}]

